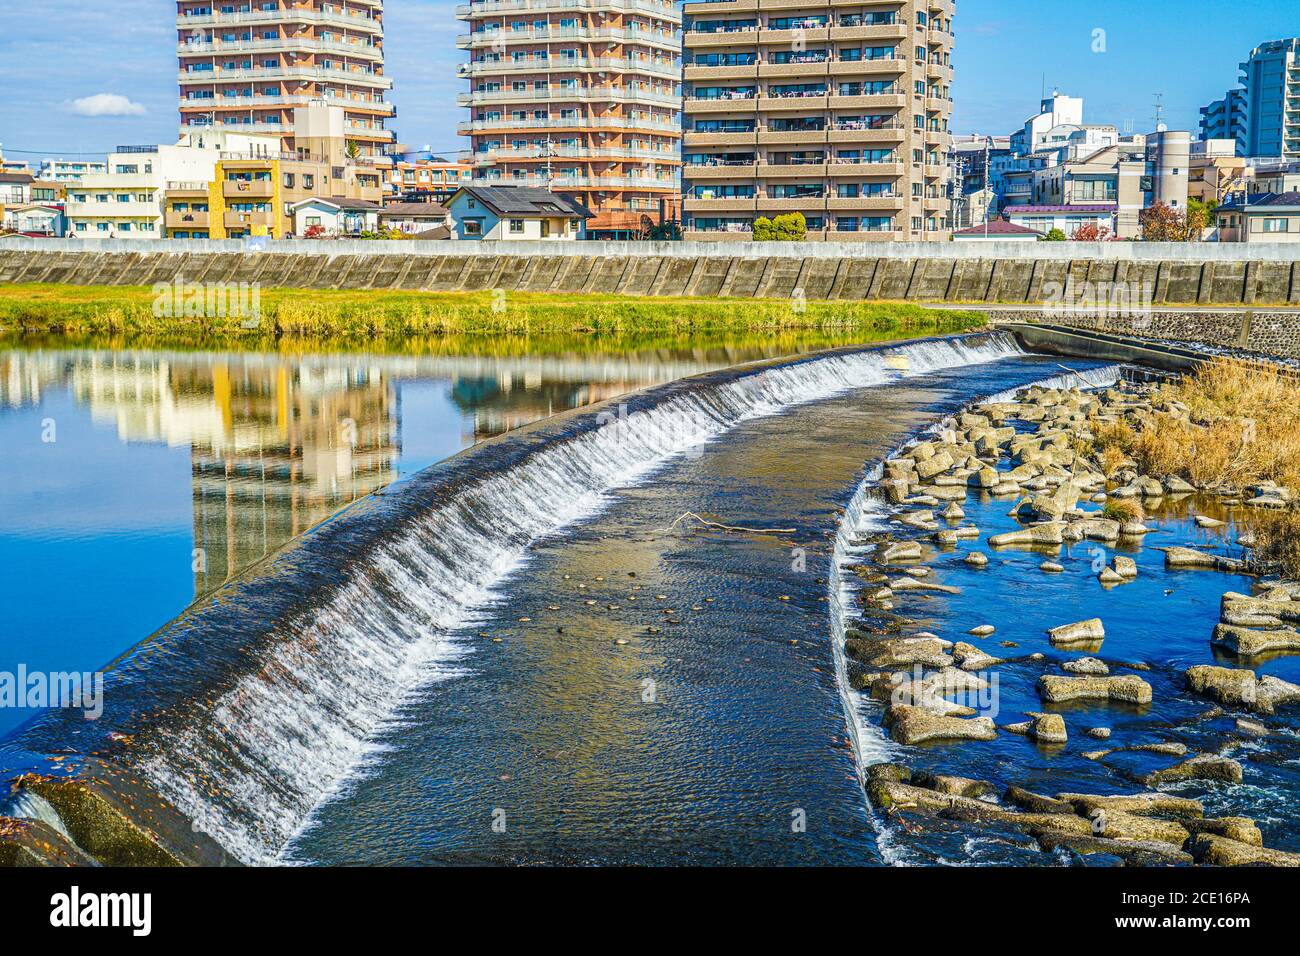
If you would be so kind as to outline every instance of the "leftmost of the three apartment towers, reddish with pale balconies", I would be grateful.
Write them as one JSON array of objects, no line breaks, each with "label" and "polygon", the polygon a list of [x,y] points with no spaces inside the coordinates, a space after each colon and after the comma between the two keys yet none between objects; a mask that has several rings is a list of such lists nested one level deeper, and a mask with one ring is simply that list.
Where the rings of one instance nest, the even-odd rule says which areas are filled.
[{"label": "leftmost of the three apartment towers, reddish with pale balconies", "polygon": [[176,26],[182,130],[270,134],[292,152],[294,108],[324,100],[358,155],[391,148],[384,0],[179,0]]}]

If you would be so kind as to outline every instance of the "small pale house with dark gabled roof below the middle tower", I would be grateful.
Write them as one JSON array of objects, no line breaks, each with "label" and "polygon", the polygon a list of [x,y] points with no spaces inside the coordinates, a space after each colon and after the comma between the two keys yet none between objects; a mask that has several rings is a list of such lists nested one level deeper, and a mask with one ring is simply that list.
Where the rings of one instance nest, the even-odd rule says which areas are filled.
[{"label": "small pale house with dark gabled roof below the middle tower", "polygon": [[447,203],[456,239],[582,239],[594,213],[534,186],[463,186]]}]

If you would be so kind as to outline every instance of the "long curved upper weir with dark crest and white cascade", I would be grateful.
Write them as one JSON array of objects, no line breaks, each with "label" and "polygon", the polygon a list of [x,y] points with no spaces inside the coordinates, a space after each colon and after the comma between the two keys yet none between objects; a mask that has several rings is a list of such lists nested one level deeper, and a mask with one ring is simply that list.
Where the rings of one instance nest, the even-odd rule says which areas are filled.
[{"label": "long curved upper weir with dark crest and white cascade", "polygon": [[[540,536],[748,419],[1018,351],[993,334],[744,365],[484,442],[360,502],[164,627],[110,667],[100,721],[47,711],[5,741],[6,763],[98,754],[82,774],[101,778],[103,761],[161,797],[157,813],[191,821],[202,839],[172,853],[178,861],[212,860],[213,847],[273,861],[364,763],[406,695],[458,672],[467,648],[452,632]],[[152,832],[170,852],[172,838]]]}]

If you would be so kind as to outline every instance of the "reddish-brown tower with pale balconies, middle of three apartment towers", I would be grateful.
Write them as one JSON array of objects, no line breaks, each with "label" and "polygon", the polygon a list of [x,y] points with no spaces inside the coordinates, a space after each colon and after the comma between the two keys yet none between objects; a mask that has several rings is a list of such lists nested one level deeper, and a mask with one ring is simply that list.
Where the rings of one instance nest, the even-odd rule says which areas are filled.
[{"label": "reddish-brown tower with pale balconies, middle of three apartment towers", "polygon": [[474,185],[550,189],[629,238],[677,194],[681,16],[672,0],[473,0],[460,103]]}]

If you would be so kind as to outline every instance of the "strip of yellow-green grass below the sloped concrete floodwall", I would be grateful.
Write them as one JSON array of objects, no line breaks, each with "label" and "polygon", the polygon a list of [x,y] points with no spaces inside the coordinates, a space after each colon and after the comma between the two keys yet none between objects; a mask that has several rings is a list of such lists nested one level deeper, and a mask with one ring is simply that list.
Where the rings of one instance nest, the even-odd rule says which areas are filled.
[{"label": "strip of yellow-green grass below the sloped concrete floodwall", "polygon": [[448,334],[688,334],[698,332],[889,332],[897,337],[979,328],[974,312],[788,299],[410,293],[264,289],[257,317],[186,315],[144,286],[12,285],[0,289],[9,336],[162,336],[202,342],[272,336],[374,339]]}]

